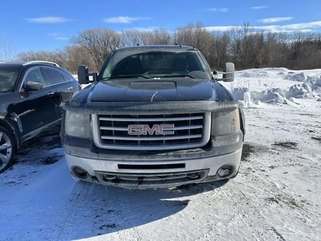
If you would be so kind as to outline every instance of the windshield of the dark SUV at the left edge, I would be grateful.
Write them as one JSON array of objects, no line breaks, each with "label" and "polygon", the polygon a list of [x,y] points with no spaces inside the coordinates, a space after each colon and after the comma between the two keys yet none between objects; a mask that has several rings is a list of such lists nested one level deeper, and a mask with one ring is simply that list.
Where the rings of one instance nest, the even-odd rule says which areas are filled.
[{"label": "windshield of the dark SUV at the left edge", "polygon": [[0,68],[0,92],[13,92],[20,69]]}]

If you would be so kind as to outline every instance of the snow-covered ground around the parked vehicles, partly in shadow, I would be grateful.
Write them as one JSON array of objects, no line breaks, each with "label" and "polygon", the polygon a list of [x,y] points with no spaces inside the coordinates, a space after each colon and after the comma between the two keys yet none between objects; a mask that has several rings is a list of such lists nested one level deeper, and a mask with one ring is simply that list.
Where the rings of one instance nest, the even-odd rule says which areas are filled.
[{"label": "snow-covered ground around the parked vehicles, partly in shadow", "polygon": [[301,72],[244,70],[224,83],[236,95],[249,88],[248,155],[229,182],[151,190],[74,182],[59,128],[24,143],[0,175],[0,240],[320,240],[319,90],[296,103],[287,94],[321,70]]}]

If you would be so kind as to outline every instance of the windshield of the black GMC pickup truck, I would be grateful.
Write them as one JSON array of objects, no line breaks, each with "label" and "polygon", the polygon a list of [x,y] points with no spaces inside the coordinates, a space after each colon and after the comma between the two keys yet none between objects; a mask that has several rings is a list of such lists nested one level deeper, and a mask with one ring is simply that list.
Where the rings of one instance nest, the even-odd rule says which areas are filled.
[{"label": "windshield of the black GMC pickup truck", "polygon": [[211,78],[199,54],[194,50],[116,51],[101,72],[102,79],[124,77]]}]

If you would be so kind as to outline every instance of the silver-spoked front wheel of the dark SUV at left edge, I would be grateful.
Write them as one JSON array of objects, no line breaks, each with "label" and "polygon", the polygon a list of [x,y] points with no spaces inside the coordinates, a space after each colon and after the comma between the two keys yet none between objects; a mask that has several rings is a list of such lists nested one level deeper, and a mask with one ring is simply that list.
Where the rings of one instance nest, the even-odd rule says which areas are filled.
[{"label": "silver-spoked front wheel of the dark SUV at left edge", "polygon": [[7,129],[0,127],[0,173],[6,171],[12,164],[15,153],[15,142]]}]

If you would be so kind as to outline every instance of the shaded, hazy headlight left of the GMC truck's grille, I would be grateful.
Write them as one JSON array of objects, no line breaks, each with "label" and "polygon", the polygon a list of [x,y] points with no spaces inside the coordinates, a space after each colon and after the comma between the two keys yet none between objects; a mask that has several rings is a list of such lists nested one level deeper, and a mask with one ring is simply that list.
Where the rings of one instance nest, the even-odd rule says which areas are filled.
[{"label": "shaded, hazy headlight left of the GMC truck's grille", "polygon": [[66,111],[65,132],[68,136],[90,138],[89,114]]}]

